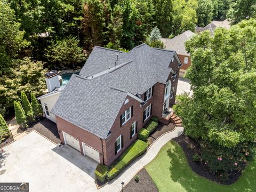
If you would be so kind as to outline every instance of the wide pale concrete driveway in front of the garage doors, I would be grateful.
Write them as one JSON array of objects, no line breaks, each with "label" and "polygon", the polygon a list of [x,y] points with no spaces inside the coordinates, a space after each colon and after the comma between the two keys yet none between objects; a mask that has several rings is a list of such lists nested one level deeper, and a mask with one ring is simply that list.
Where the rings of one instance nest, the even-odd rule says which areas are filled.
[{"label": "wide pale concrete driveway in front of the garage doors", "polygon": [[29,182],[29,191],[96,191],[97,162],[35,131],[0,152],[0,182]]}]

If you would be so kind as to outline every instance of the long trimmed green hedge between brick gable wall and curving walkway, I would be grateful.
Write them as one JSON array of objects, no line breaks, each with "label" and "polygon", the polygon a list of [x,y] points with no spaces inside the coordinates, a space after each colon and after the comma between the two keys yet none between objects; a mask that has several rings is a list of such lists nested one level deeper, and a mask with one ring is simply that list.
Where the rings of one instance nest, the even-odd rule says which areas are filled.
[{"label": "long trimmed green hedge between brick gable wall and curving walkway", "polygon": [[118,158],[118,161],[110,167],[107,178],[108,180],[114,179],[124,168],[129,165],[135,158],[139,157],[146,151],[148,146],[147,142],[137,140],[128,149],[124,151],[124,154]]}]

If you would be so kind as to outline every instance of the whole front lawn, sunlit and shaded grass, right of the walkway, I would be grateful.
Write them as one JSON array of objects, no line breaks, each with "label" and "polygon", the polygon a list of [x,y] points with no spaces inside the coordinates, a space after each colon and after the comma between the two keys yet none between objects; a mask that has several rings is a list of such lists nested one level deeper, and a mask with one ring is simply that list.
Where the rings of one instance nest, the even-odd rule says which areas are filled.
[{"label": "whole front lawn, sunlit and shaded grass, right of the walkway", "polygon": [[249,162],[237,182],[232,185],[220,185],[193,172],[182,148],[170,141],[158,155],[146,165],[150,177],[160,192],[162,191],[256,191],[256,161]]}]

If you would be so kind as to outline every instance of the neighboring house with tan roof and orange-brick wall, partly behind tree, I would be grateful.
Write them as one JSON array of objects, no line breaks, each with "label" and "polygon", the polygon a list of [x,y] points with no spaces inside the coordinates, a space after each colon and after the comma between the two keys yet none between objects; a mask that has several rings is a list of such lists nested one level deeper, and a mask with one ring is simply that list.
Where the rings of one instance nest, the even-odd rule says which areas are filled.
[{"label": "neighboring house with tan roof and orange-brick wall, partly behind tree", "polygon": [[195,35],[192,31],[187,30],[184,33],[170,38],[161,38],[161,41],[164,43],[165,49],[176,51],[178,57],[182,63],[180,68],[179,76],[183,77],[186,73],[186,70],[191,64],[190,54],[186,51],[185,42],[191,37]]}]

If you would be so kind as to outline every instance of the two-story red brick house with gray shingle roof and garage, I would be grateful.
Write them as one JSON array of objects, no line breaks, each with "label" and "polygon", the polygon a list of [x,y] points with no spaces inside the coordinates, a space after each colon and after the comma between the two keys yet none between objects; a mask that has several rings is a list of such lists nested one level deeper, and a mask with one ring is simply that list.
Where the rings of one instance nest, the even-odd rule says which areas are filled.
[{"label": "two-story red brick house with gray shingle roof and garage", "polygon": [[95,46],[50,111],[61,142],[110,165],[151,116],[166,120],[180,66],[174,51],[146,44],[128,53]]}]

